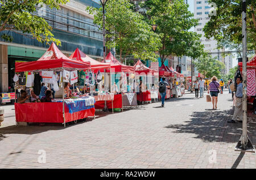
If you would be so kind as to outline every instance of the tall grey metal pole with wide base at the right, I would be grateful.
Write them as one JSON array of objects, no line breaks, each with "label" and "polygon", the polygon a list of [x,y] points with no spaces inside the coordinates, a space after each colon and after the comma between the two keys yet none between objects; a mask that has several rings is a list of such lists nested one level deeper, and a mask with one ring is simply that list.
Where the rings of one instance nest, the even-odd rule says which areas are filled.
[{"label": "tall grey metal pole with wide base at the right", "polygon": [[242,0],[242,59],[243,59],[243,97],[242,97],[242,109],[243,109],[243,122],[242,122],[242,136],[236,145],[235,151],[248,151],[255,152],[253,144],[247,135],[247,41],[246,41],[246,0]]}]

